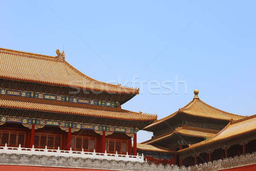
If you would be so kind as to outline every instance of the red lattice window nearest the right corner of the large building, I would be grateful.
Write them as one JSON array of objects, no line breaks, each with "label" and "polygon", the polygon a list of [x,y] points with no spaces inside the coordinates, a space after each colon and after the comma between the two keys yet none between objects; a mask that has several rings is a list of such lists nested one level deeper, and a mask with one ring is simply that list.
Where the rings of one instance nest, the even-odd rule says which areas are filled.
[{"label": "red lattice window nearest the right corner of the large building", "polygon": [[105,149],[108,153],[126,154],[127,141],[119,139],[106,139]]}]

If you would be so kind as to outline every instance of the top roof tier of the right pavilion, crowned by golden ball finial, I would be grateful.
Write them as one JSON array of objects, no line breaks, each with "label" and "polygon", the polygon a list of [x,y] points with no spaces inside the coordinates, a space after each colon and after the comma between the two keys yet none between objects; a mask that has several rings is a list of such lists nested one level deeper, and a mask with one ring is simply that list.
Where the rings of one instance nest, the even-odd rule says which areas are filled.
[{"label": "top roof tier of the right pavilion, crowned by golden ball finial", "polygon": [[203,118],[209,118],[209,119],[221,119],[221,120],[239,120],[244,118],[245,116],[236,115],[233,113],[224,112],[223,110],[219,110],[215,107],[210,106],[209,104],[206,104],[204,101],[201,101],[198,97],[198,90],[194,91],[195,97],[192,101],[189,102],[186,106],[180,108],[175,113],[163,118],[159,119],[155,122],[153,122],[151,125],[148,125],[144,128],[144,130],[148,130],[148,128],[151,128],[155,125],[159,125],[160,123],[172,119],[174,116],[176,116],[179,113],[184,113],[190,116],[197,116],[197,117],[203,117]]}]

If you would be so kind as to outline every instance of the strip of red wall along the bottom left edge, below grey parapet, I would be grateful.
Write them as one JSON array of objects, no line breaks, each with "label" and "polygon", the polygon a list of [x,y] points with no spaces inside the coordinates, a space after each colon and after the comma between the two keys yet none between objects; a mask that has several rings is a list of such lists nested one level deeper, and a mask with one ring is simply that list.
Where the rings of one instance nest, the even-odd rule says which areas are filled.
[{"label": "strip of red wall along the bottom left edge, below grey parapet", "polygon": [[87,168],[55,168],[25,165],[0,165],[0,171],[110,171]]}]

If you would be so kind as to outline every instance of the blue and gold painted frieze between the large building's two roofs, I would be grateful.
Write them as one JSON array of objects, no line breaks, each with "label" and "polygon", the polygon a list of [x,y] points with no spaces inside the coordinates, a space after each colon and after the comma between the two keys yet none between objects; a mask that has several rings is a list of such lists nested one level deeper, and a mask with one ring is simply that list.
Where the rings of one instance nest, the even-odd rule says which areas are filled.
[{"label": "blue and gold painted frieze between the large building's two roofs", "polygon": [[11,89],[0,88],[0,94],[10,95],[10,96],[29,97],[29,98],[35,98],[35,99],[67,101],[72,103],[91,104],[96,106],[116,107],[116,102],[113,102],[113,101],[82,99],[82,98],[73,97],[73,96],[61,96],[61,95],[38,93],[38,92],[32,92],[32,91],[11,90]]}]

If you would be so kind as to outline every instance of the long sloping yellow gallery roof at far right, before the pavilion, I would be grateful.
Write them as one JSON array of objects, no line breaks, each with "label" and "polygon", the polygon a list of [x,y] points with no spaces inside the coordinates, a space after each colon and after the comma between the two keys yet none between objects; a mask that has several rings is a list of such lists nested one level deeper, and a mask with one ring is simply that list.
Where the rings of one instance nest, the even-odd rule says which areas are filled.
[{"label": "long sloping yellow gallery roof at far right, before the pavilion", "polygon": [[189,148],[180,150],[181,152],[192,150],[204,145],[210,145],[214,142],[221,142],[225,139],[230,139],[236,136],[250,133],[256,130],[256,115],[246,117],[237,121],[231,121],[223,130],[217,133],[215,136],[191,145]]}]

